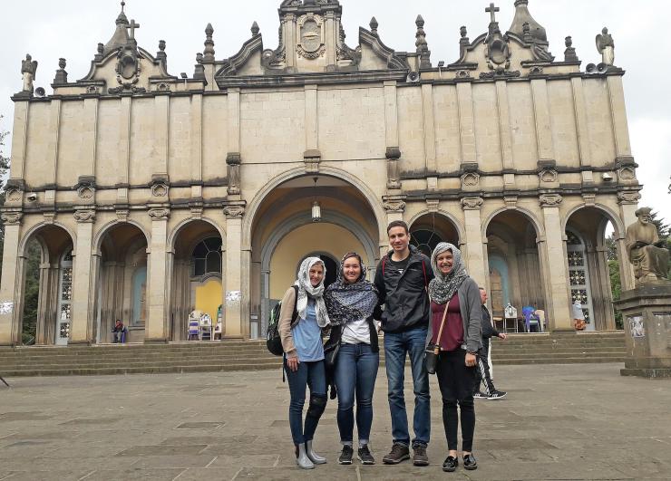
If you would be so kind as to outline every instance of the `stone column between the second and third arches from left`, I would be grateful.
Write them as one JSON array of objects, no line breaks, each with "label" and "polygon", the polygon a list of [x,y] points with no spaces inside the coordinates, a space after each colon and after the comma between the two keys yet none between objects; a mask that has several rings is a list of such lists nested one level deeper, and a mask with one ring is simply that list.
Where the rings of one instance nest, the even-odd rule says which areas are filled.
[{"label": "stone column between the second and third arches from left", "polygon": [[144,342],[168,342],[168,299],[166,289],[169,285],[167,272],[167,240],[168,219],[170,209],[165,207],[152,208],[151,217],[151,252],[147,259],[148,281],[147,297],[149,312],[144,332]]}]

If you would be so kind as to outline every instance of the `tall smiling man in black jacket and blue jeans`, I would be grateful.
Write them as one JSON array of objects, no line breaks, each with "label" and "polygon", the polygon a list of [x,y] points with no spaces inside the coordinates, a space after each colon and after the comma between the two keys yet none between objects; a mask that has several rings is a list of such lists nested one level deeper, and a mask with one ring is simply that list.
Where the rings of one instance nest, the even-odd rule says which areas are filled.
[{"label": "tall smiling man in black jacket and blue jeans", "polygon": [[431,397],[429,376],[424,368],[424,342],[431,309],[427,286],[433,279],[433,271],[429,258],[410,246],[407,224],[394,221],[387,227],[387,234],[392,250],[377,265],[374,282],[380,292],[380,303],[384,304],[384,359],[394,440],[392,451],[383,462],[395,465],[410,458],[404,399],[405,359],[409,354],[414,390],[413,464],[428,466]]}]

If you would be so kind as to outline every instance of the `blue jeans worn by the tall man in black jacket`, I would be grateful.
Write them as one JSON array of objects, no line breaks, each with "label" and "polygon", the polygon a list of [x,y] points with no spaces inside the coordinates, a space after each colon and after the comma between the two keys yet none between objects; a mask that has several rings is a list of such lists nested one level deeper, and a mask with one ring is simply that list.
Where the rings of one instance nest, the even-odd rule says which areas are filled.
[{"label": "blue jeans worn by the tall man in black jacket", "polygon": [[405,412],[405,354],[410,355],[414,390],[413,447],[427,445],[431,437],[431,396],[429,375],[424,368],[424,344],[428,327],[404,332],[384,333],[384,359],[389,385],[389,410],[392,413],[394,443],[410,446],[408,416]]}]

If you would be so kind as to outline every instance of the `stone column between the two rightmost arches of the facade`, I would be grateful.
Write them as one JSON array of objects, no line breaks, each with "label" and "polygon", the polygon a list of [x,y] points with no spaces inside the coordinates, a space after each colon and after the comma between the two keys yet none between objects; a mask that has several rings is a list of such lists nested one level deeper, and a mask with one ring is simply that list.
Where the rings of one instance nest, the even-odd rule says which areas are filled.
[{"label": "stone column between the two rightmost arches of the facade", "polygon": [[559,194],[545,194],[540,197],[545,224],[545,301],[548,303],[546,315],[551,331],[573,331],[569,309],[569,270],[566,265],[564,233],[561,230]]}]

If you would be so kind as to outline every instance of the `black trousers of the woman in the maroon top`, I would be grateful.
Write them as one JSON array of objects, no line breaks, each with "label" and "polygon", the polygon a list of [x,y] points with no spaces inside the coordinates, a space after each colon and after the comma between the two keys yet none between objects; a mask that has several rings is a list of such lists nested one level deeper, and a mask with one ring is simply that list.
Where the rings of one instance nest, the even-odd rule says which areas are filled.
[{"label": "black trousers of the woman in the maroon top", "polygon": [[442,351],[436,364],[436,376],[442,394],[442,424],[447,448],[450,451],[457,449],[458,404],[462,418],[462,450],[471,452],[475,434],[475,367],[466,367],[466,351],[462,349]]}]

